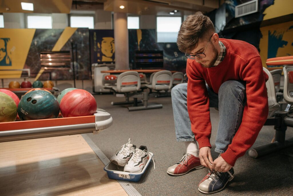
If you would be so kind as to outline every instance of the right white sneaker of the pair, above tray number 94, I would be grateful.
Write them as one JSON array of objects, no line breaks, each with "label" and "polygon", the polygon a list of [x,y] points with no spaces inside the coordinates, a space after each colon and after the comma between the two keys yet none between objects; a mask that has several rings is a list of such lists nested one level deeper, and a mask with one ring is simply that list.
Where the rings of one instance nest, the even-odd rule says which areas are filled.
[{"label": "right white sneaker of the pair, above tray number 94", "polygon": [[124,167],[125,172],[140,173],[149,160],[147,146],[136,148],[132,157]]}]

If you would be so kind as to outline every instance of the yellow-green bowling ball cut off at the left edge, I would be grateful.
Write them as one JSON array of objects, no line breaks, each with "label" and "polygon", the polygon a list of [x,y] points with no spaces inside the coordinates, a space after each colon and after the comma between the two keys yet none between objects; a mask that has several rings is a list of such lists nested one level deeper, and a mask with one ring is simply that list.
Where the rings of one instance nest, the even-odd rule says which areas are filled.
[{"label": "yellow-green bowling ball cut off at the left edge", "polygon": [[17,107],[14,100],[7,94],[0,92],[0,122],[15,121]]}]

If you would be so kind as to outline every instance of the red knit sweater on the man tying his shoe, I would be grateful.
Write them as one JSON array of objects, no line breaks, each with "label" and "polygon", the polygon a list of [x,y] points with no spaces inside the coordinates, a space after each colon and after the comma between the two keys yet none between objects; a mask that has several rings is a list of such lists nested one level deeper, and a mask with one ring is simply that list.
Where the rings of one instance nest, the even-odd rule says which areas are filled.
[{"label": "red knit sweater on the man tying his shoe", "polygon": [[237,158],[243,156],[253,145],[268,117],[268,94],[265,86],[268,75],[263,71],[260,55],[253,45],[240,40],[220,41],[226,47],[226,55],[219,65],[204,68],[195,60],[187,60],[187,108],[191,129],[199,148],[211,148],[209,139],[212,126],[205,81],[215,93],[219,92],[220,86],[227,80],[246,82],[247,101],[241,125],[232,143],[221,155],[227,163],[234,166]]}]

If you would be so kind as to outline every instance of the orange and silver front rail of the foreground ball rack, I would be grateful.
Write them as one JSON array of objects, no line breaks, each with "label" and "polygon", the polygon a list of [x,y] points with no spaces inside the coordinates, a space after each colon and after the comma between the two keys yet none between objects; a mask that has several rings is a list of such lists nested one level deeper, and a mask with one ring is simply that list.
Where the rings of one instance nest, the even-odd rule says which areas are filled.
[{"label": "orange and silver front rail of the foreground ball rack", "polygon": [[92,116],[3,122],[0,123],[0,142],[85,133],[97,134],[110,127],[112,123],[112,116],[103,109],[97,109]]}]

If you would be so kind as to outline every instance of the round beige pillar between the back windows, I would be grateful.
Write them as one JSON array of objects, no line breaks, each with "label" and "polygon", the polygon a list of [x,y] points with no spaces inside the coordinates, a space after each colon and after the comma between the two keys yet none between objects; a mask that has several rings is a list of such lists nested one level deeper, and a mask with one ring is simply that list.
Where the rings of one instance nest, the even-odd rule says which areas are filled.
[{"label": "round beige pillar between the back windows", "polygon": [[115,69],[129,69],[127,14],[114,13]]}]

